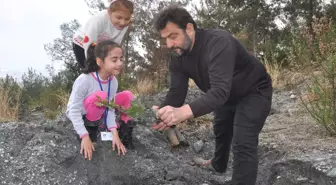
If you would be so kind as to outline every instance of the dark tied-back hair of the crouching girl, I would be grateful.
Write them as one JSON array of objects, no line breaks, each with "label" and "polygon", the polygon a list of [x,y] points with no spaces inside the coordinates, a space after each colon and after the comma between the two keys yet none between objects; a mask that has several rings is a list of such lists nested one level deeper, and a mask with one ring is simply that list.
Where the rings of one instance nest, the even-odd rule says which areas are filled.
[{"label": "dark tied-back hair of the crouching girl", "polygon": [[121,48],[119,44],[112,40],[103,40],[96,43],[92,43],[87,50],[87,58],[85,60],[85,68],[83,72],[85,74],[96,72],[99,69],[96,59],[99,58],[102,61],[107,57],[108,53],[114,48]]}]

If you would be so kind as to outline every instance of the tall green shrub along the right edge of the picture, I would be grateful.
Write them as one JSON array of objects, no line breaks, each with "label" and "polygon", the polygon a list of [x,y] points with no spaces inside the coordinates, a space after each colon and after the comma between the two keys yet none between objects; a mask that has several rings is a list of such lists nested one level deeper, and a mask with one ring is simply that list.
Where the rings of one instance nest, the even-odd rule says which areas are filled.
[{"label": "tall green shrub along the right edge of the picture", "polygon": [[318,42],[307,38],[307,43],[308,48],[318,49],[313,54],[321,74],[313,74],[313,82],[308,84],[314,99],[303,103],[317,124],[336,135],[336,25],[320,19],[314,27],[318,28],[314,30]]}]

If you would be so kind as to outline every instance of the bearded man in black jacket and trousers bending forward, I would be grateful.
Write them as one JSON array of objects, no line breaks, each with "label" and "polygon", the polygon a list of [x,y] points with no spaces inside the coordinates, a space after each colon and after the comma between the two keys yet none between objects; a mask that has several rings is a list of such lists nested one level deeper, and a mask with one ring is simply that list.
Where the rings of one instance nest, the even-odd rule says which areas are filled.
[{"label": "bearded man in black jacket and trousers bending forward", "polygon": [[[154,27],[173,55],[169,91],[160,107],[153,106],[162,122],[152,128],[165,130],[214,111],[215,155],[202,165],[225,172],[232,144],[232,183],[255,184],[259,133],[272,103],[272,80],[264,65],[230,33],[197,28],[184,8],[161,11]],[[205,95],[183,105],[189,78]]]}]

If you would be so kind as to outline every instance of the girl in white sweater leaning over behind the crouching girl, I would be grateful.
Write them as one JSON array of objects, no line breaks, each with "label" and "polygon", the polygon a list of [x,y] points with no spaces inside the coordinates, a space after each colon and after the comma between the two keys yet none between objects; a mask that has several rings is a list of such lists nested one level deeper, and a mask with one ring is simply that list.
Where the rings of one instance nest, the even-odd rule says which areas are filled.
[{"label": "girl in white sweater leaning over behind the crouching girl", "polygon": [[93,15],[83,29],[73,37],[73,51],[81,68],[85,66],[87,49],[91,43],[109,39],[120,45],[129,28],[133,3],[129,0],[109,0],[109,2],[108,9]]}]

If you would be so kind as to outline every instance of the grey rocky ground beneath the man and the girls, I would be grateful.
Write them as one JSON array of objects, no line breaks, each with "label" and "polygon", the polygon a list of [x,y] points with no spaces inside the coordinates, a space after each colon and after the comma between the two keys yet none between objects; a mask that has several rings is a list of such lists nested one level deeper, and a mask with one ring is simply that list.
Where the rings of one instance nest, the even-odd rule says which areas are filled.
[{"label": "grey rocky ground beneath the man and the girls", "polygon": [[[190,90],[187,102],[201,94]],[[161,93],[141,101],[150,108],[163,98]],[[134,130],[136,150],[117,156],[109,142],[98,142],[91,161],[79,154],[79,140],[64,116],[46,121],[42,114],[35,113],[19,123],[1,123],[0,184],[230,184],[231,168],[226,174],[217,174],[192,162],[194,156],[212,157],[211,115],[180,125],[190,145],[174,149],[162,134],[150,129],[149,122],[147,116],[138,120]],[[260,143],[257,184],[336,184],[336,138],[313,123],[299,106],[297,94],[274,92]]]}]

